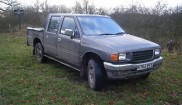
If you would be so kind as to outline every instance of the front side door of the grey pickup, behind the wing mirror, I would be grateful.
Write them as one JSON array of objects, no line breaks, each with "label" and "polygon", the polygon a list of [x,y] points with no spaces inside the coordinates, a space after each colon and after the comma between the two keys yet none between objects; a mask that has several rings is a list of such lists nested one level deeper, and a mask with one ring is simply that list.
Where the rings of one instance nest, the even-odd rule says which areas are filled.
[{"label": "front side door of the grey pickup, behind the wing mirror", "polygon": [[[74,36],[66,35],[66,29],[73,30]],[[57,41],[58,57],[67,63],[79,66],[80,34],[73,17],[64,17]]]}]

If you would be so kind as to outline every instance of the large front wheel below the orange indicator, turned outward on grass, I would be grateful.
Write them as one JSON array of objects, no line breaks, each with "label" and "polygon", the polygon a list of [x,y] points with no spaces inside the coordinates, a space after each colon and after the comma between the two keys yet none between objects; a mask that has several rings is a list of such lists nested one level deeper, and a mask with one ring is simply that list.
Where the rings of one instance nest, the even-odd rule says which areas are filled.
[{"label": "large front wheel below the orange indicator, turned outward on grass", "polygon": [[94,59],[90,59],[88,61],[87,67],[87,77],[89,87],[93,90],[100,90],[104,85],[104,77],[103,72],[101,70],[101,66],[99,66],[99,62]]}]

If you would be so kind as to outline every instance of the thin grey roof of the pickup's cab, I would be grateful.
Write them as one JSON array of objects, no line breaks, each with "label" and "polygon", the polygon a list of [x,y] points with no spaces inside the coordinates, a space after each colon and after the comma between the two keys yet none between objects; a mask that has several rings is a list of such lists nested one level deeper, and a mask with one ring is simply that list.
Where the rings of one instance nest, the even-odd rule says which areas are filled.
[{"label": "thin grey roof of the pickup's cab", "polygon": [[109,17],[106,15],[96,15],[96,14],[70,14],[70,13],[51,13],[49,15],[57,15],[57,16],[98,16],[98,17]]}]

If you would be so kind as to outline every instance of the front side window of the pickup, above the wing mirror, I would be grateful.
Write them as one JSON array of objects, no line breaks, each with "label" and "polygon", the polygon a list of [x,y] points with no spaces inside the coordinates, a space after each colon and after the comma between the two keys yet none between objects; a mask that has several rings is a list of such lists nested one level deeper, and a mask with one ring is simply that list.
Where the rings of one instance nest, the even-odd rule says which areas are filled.
[{"label": "front side window of the pickup, above the wing mirror", "polygon": [[65,34],[65,29],[71,29],[71,30],[75,31],[76,24],[75,24],[74,18],[72,18],[72,17],[64,18],[60,33]]}]

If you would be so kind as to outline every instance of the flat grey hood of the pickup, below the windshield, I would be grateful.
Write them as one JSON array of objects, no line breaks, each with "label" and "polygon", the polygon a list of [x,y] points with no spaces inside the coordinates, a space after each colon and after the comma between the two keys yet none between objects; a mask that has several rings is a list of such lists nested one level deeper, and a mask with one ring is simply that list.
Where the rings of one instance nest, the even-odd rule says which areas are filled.
[{"label": "flat grey hood of the pickup, below the windshield", "polygon": [[118,50],[118,52],[159,48],[159,45],[154,42],[129,34],[92,36],[92,38],[92,40],[105,44],[115,50]]}]

